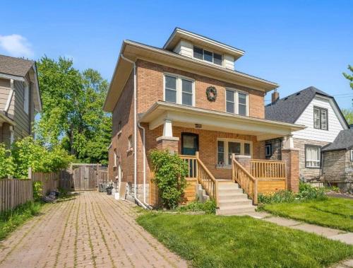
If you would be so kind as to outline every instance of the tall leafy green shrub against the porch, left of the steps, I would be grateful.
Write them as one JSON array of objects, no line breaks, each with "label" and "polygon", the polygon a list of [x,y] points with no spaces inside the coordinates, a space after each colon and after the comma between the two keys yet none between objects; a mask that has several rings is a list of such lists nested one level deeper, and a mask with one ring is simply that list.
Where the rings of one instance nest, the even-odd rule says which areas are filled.
[{"label": "tall leafy green shrub against the porch, left of the steps", "polygon": [[162,206],[174,209],[184,194],[188,167],[177,154],[169,151],[154,149],[150,151],[149,156],[155,172],[153,182],[160,192]]}]

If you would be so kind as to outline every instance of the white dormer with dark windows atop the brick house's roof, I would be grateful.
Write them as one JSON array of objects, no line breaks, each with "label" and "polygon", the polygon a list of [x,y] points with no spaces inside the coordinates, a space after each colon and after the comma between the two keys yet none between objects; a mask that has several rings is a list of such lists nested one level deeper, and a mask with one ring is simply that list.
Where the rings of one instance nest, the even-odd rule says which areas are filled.
[{"label": "white dormer with dark windows atop the brick house's roof", "polygon": [[234,70],[234,61],[244,54],[240,49],[180,28],[174,30],[163,48],[232,70]]}]

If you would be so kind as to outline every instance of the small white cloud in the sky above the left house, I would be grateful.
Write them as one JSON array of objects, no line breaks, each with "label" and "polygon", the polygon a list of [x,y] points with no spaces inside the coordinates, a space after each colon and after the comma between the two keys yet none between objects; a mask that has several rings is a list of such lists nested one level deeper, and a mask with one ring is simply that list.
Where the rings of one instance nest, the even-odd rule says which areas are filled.
[{"label": "small white cloud in the sky above the left house", "polygon": [[31,45],[22,35],[0,35],[0,47],[13,57],[33,57]]}]

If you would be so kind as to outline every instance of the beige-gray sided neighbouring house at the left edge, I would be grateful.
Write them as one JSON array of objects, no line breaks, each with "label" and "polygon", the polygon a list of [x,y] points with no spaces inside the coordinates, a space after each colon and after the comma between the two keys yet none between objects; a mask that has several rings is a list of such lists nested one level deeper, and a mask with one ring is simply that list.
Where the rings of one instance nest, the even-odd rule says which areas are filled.
[{"label": "beige-gray sided neighbouring house at the left edge", "polygon": [[0,55],[0,143],[32,135],[42,103],[35,62]]}]

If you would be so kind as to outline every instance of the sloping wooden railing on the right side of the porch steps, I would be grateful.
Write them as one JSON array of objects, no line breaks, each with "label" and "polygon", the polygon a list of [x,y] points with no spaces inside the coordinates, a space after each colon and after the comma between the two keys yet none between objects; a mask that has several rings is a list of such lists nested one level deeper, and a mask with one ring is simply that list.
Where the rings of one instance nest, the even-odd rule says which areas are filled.
[{"label": "sloping wooden railing on the right side of the porch steps", "polygon": [[232,180],[239,184],[246,194],[258,204],[258,181],[232,155]]}]

